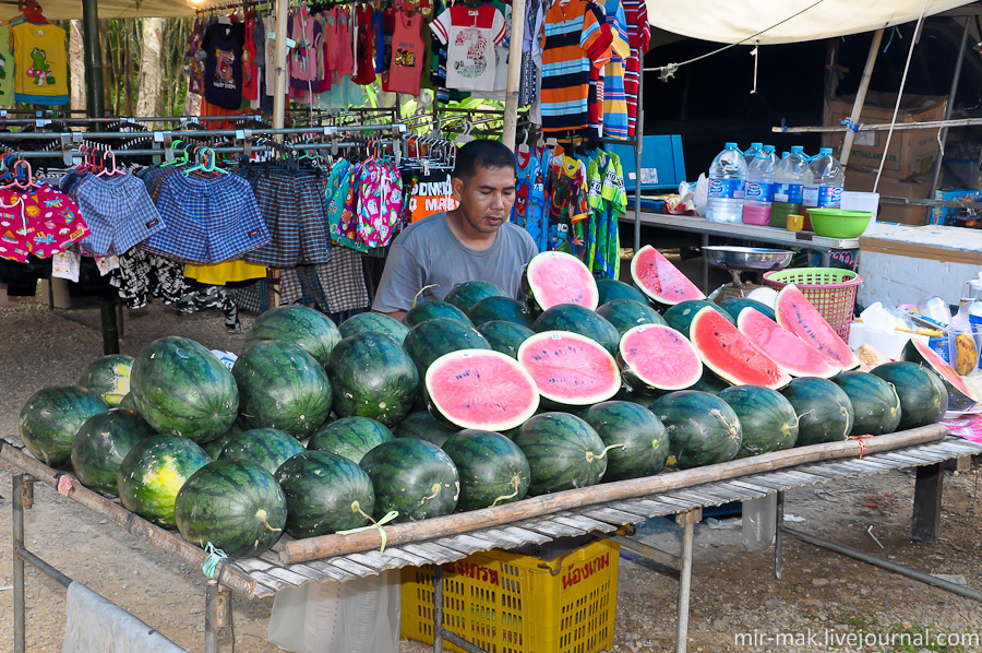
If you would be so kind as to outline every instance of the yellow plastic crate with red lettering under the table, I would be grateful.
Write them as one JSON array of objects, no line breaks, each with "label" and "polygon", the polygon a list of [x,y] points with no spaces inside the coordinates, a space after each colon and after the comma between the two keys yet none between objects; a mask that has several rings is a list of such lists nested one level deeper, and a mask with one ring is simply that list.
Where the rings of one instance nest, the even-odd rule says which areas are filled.
[{"label": "yellow plastic crate with red lettering under the table", "polygon": [[[492,550],[445,565],[444,627],[489,653],[609,649],[619,553],[601,539],[552,559]],[[403,569],[402,634],[433,642],[432,567]]]}]

